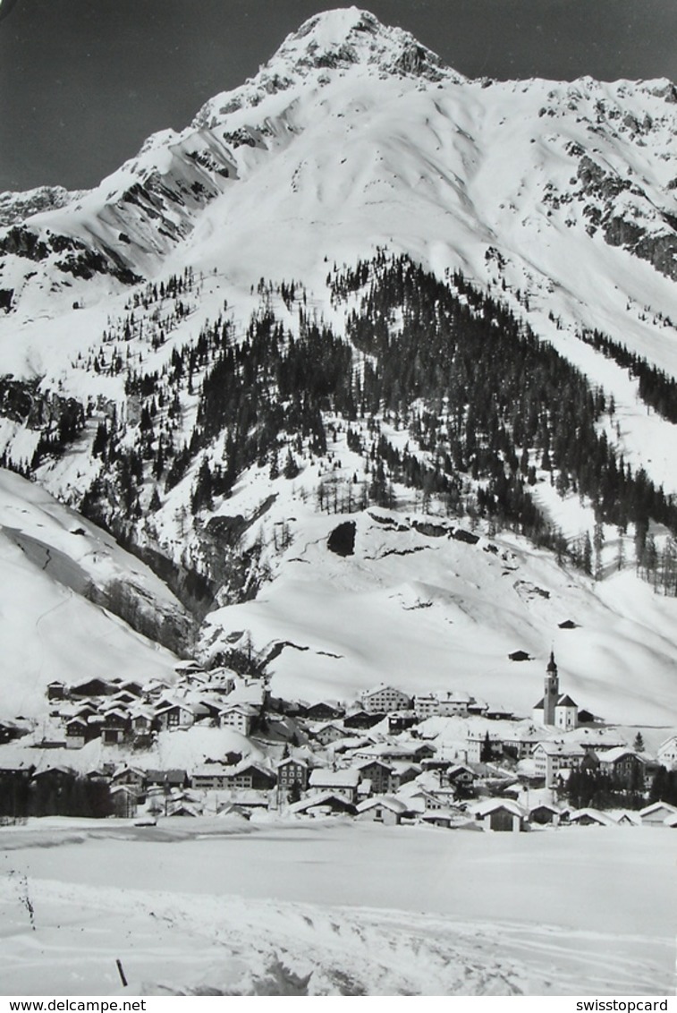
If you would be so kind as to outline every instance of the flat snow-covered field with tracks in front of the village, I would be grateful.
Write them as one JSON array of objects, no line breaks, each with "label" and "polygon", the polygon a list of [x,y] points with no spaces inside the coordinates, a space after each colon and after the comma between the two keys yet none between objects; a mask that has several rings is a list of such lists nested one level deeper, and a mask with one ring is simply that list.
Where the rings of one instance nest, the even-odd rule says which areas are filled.
[{"label": "flat snow-covered field with tracks in front of the village", "polygon": [[672,995],[676,836],[0,830],[0,993]]}]

